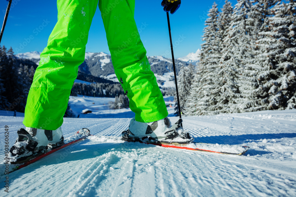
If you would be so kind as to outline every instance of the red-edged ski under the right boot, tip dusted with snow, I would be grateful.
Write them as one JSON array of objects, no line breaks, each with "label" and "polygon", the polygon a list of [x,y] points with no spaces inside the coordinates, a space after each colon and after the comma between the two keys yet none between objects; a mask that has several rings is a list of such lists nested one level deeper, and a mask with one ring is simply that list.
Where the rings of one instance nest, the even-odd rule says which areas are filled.
[{"label": "red-edged ski under the right boot, tip dusted with snow", "polygon": [[143,141],[140,139],[126,139],[122,138],[124,141],[129,142],[140,142],[144,144],[152,144],[155,146],[162,146],[166,148],[176,148],[176,149],[185,149],[193,151],[202,151],[202,152],[211,152],[219,154],[232,154],[232,155],[242,155],[246,153],[250,147],[249,146],[239,146],[239,145],[229,145],[229,144],[208,144],[208,143],[199,143],[193,142],[189,144],[168,144],[163,142],[158,142],[157,140],[152,140],[150,138],[145,138]]}]

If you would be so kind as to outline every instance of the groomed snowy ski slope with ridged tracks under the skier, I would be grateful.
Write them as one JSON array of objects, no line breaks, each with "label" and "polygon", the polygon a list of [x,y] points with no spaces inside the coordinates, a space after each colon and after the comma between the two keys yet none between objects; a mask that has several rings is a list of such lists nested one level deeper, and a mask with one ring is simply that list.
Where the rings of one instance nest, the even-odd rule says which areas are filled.
[{"label": "groomed snowy ski slope with ridged tracks under the skier", "polygon": [[[82,106],[95,109],[97,105],[96,112],[110,113],[106,106],[109,98],[91,99],[70,98],[71,106],[74,109],[76,103],[81,110]],[[170,116],[173,108],[168,107]],[[10,173],[9,193],[4,192],[6,179],[2,175],[0,195],[295,196],[296,110],[183,118],[184,128],[196,142],[250,146],[242,156],[123,142],[120,133],[130,120],[125,115],[131,113],[126,110],[113,110],[118,112],[114,118],[65,118],[65,137],[84,127],[95,136]],[[9,126],[9,147],[17,129],[23,127],[23,117],[4,113],[0,116],[1,158],[4,126]],[[0,169],[3,174],[3,165]]]}]

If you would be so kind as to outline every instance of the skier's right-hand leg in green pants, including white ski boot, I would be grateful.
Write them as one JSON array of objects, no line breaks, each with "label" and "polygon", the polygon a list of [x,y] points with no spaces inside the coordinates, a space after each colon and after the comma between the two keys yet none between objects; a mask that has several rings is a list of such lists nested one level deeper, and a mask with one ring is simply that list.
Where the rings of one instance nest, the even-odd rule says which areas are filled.
[{"label": "skier's right-hand leg in green pants, including white ski boot", "polygon": [[128,131],[122,133],[123,139],[151,136],[153,140],[168,144],[192,141],[193,138],[180,126],[182,120],[171,126],[167,118],[163,96],[150,70],[134,20],[135,0],[100,0],[99,8],[115,74],[136,114]]}]

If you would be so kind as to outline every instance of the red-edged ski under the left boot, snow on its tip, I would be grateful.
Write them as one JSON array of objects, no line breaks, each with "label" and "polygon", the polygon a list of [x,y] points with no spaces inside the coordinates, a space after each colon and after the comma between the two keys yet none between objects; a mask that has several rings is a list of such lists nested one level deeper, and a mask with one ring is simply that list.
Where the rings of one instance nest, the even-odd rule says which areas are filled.
[{"label": "red-edged ski under the left boot, snow on its tip", "polygon": [[[12,168],[11,171],[9,171],[9,173],[10,172],[14,172],[16,170],[19,170],[19,169],[21,169],[23,167],[26,167],[26,166],[28,166],[28,165],[30,165],[30,164],[38,161],[39,159],[42,159],[43,157],[46,157],[46,156],[48,156],[48,155],[50,155],[50,154],[52,154],[52,153],[54,153],[54,152],[56,152],[56,151],[58,151],[60,149],[63,149],[63,148],[65,148],[67,146],[70,146],[72,144],[76,144],[76,143],[84,140],[89,135],[90,135],[89,129],[82,128],[79,131],[77,131],[74,135],[72,135],[72,136],[64,139],[65,144],[63,144],[62,146],[59,146],[59,147],[54,148],[54,149],[51,149],[48,152],[38,154],[36,157],[30,159],[27,162],[19,163],[19,164],[13,164],[12,163],[11,165],[15,165],[15,166]],[[7,159],[9,159],[9,158],[5,158],[4,160],[7,160]]]}]

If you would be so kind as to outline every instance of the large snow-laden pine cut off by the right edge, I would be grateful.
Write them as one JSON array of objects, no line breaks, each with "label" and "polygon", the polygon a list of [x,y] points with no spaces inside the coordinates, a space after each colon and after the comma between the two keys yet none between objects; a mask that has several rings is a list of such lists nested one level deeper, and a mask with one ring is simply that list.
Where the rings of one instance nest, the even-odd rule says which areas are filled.
[{"label": "large snow-laden pine cut off by the right edge", "polygon": [[267,109],[295,108],[296,44],[295,1],[289,4],[278,2],[268,17],[268,30],[260,32],[258,40],[263,68],[258,73],[259,87],[254,95]]}]

